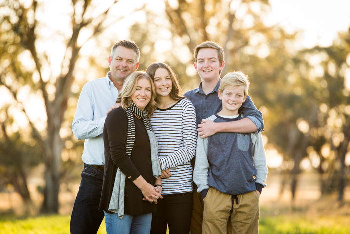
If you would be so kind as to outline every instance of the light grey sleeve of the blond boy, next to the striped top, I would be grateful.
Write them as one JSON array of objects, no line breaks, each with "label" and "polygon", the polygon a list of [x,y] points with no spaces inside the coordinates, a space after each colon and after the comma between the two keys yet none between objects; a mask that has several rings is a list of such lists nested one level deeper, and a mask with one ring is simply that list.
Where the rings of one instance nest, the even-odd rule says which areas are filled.
[{"label": "light grey sleeve of the blond boy, next to the striped top", "polygon": [[195,153],[195,166],[193,173],[193,181],[198,186],[197,192],[201,192],[204,189],[208,189],[208,138],[197,139],[197,150]]}]

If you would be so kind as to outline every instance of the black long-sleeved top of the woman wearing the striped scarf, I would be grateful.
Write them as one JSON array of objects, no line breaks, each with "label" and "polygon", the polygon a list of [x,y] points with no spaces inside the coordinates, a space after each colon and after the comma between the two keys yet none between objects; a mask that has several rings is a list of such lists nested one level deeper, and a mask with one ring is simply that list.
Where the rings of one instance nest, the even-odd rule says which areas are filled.
[{"label": "black long-sleeved top of the woman wearing the striped scarf", "polygon": [[[150,142],[142,119],[134,116],[136,136],[135,143],[129,158],[126,153],[127,141],[127,115],[124,109],[112,110],[104,123],[104,177],[99,209],[108,211],[112,196],[115,175],[118,167],[126,176],[125,181],[125,209],[128,215],[143,215],[154,213],[156,205],[143,201],[141,190],[132,182],[140,175],[150,184],[154,185],[155,177],[152,173],[150,155]],[[130,177],[128,179],[128,177]]]}]

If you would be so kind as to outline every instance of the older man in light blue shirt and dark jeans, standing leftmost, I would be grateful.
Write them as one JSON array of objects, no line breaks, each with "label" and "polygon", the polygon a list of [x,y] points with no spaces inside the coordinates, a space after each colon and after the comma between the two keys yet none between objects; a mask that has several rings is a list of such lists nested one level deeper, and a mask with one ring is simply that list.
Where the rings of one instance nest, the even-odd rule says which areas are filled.
[{"label": "older man in light blue shirt and dark jeans, standing leftmost", "polygon": [[70,232],[97,233],[104,218],[98,210],[104,173],[103,127],[106,115],[122,89],[125,78],[139,66],[136,43],[119,41],[108,57],[110,71],[106,77],[87,82],[80,94],[72,130],[78,140],[85,140],[82,160],[84,169],[70,220]]}]

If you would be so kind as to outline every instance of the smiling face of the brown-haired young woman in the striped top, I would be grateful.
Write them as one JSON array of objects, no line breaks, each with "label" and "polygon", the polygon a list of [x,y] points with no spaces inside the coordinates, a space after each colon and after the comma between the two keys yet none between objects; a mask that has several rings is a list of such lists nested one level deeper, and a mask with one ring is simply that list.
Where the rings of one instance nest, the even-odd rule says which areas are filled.
[{"label": "smiling face of the brown-haired young woman in the striped top", "polygon": [[154,74],[154,85],[157,95],[167,96],[172,89],[172,80],[165,68],[158,68]]}]

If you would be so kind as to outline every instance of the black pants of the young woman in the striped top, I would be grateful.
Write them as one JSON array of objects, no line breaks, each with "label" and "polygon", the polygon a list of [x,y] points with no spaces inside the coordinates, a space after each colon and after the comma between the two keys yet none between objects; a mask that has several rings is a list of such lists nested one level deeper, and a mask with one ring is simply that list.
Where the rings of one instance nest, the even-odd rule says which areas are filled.
[{"label": "black pants of the young woman in the striped top", "polygon": [[158,199],[157,209],[152,217],[151,234],[166,234],[167,225],[170,234],[189,233],[193,211],[191,192],[163,195],[163,199]]}]

